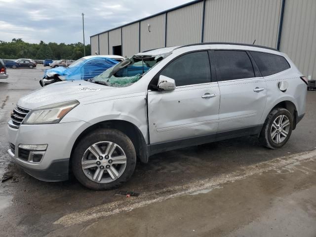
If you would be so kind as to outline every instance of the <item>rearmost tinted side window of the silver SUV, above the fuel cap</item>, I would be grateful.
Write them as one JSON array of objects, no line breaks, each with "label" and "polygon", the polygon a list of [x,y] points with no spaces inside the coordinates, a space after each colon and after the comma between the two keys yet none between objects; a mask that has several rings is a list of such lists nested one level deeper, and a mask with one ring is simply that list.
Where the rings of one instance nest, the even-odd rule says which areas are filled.
[{"label": "rearmost tinted side window of the silver SUV, above the fuel cap", "polygon": [[263,77],[267,77],[290,68],[286,59],[282,56],[262,53],[250,52]]}]

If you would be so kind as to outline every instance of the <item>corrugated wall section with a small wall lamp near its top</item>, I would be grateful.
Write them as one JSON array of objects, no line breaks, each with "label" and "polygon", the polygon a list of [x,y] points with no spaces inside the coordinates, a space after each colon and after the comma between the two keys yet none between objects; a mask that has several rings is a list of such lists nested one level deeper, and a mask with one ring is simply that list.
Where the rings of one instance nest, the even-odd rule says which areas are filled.
[{"label": "corrugated wall section with a small wall lamp near its top", "polygon": [[[150,32],[148,30],[148,24],[150,24]],[[141,21],[140,51],[164,47],[164,33],[165,14]]]}]

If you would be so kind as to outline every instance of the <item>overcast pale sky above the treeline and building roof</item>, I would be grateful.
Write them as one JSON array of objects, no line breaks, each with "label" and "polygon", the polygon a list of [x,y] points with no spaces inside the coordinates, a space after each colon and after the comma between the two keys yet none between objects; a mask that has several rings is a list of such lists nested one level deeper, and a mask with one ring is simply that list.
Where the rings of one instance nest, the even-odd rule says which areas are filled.
[{"label": "overcast pale sky above the treeline and building roof", "polygon": [[82,42],[90,36],[191,0],[0,0],[0,40]]}]

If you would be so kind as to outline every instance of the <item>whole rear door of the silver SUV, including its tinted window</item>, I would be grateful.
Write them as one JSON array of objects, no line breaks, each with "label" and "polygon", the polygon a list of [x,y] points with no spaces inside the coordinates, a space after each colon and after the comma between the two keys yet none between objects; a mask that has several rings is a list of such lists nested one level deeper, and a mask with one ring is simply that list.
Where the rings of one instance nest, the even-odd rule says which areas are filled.
[{"label": "whole rear door of the silver SUV, including its tinted window", "polygon": [[259,125],[267,86],[250,55],[242,50],[214,50],[221,92],[219,132]]}]

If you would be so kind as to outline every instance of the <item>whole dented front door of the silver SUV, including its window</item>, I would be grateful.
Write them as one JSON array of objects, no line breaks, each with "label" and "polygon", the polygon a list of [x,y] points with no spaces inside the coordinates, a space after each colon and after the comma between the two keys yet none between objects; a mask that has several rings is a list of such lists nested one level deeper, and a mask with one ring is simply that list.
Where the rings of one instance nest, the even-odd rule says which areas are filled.
[{"label": "whole dented front door of the silver SUV, including its window", "polygon": [[220,91],[218,83],[211,80],[208,52],[184,54],[160,75],[174,79],[176,88],[148,92],[151,144],[215,134]]}]

